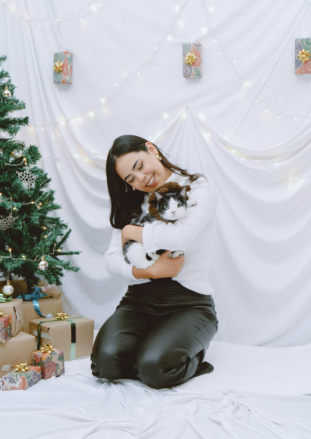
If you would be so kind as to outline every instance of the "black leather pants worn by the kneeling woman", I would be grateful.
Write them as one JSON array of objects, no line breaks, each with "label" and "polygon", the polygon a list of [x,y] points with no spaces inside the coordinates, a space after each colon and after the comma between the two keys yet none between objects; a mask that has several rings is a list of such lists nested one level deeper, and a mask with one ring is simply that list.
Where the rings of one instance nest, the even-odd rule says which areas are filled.
[{"label": "black leather pants worn by the kneeling woman", "polygon": [[130,285],[98,332],[91,355],[97,378],[131,378],[154,389],[195,376],[218,328],[211,295],[171,278]]}]

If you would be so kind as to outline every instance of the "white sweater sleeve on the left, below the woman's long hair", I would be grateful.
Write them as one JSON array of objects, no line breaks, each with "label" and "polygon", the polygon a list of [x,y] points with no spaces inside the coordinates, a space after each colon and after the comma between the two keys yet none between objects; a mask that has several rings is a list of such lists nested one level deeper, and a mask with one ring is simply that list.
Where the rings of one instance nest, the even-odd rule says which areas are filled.
[{"label": "white sweater sleeve on the left, below the woman's long hair", "polygon": [[112,231],[110,245],[104,255],[106,270],[114,276],[125,277],[128,281],[131,281],[131,284],[141,283],[141,281],[145,281],[145,279],[137,279],[132,272],[133,265],[128,264],[124,259],[121,246],[121,233],[121,229],[114,228]]}]

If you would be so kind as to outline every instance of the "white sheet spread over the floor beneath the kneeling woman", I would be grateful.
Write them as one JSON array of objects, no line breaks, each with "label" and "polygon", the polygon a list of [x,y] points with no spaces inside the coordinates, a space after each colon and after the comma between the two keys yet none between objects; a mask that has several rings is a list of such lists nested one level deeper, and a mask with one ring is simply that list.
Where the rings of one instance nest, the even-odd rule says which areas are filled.
[{"label": "white sheet spread over the floor beneath the kneeling woman", "polygon": [[[1,431],[20,439],[310,439],[311,345],[211,342],[211,374],[172,389],[106,381],[90,358],[27,391],[1,392]],[[310,396],[307,396],[310,394]]]}]

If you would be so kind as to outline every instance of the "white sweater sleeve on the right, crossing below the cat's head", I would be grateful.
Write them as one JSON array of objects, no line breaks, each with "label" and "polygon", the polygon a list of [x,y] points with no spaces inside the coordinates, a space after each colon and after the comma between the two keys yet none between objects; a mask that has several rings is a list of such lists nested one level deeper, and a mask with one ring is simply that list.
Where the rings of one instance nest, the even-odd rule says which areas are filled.
[{"label": "white sweater sleeve on the right, crossing below the cat's head", "polygon": [[216,214],[218,188],[212,181],[200,177],[191,183],[188,207],[185,219],[177,223],[148,223],[142,232],[142,241],[147,253],[156,252],[160,248],[166,250],[186,250],[203,230],[206,224],[213,220]]}]

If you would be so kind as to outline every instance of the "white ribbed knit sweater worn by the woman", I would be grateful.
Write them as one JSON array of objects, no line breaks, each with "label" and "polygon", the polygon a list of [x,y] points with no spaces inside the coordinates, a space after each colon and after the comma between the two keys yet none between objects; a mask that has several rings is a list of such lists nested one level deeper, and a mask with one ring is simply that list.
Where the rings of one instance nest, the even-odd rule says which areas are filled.
[{"label": "white ribbed knit sweater worn by the woman", "polygon": [[[176,223],[148,223],[142,233],[143,245],[146,252],[155,252],[160,248],[166,250],[184,250],[184,265],[174,281],[179,282],[189,290],[200,294],[213,294],[214,289],[208,282],[211,256],[211,244],[215,227],[218,188],[212,180],[200,177],[188,182],[188,177],[172,173],[166,180],[177,181],[184,186],[190,184],[188,192],[188,207],[186,218]],[[141,205],[143,212],[148,209],[149,194]],[[124,260],[121,246],[121,230],[113,229],[111,242],[105,252],[105,264],[108,273],[127,279],[128,285],[150,282],[149,279],[137,279],[132,273],[133,265]]]}]

